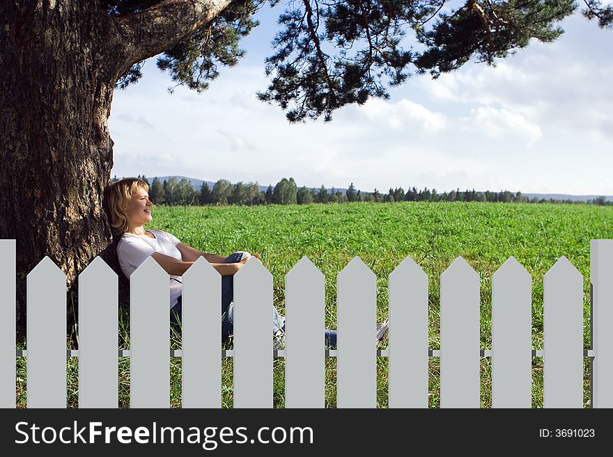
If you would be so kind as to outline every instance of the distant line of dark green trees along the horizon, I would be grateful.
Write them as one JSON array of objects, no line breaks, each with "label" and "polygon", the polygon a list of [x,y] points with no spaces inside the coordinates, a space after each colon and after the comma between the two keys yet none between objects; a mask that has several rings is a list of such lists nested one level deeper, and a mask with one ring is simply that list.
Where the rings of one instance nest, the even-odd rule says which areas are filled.
[{"label": "distant line of dark green trees along the horizon", "polygon": [[[237,182],[232,184],[227,179],[219,179],[212,189],[203,182],[199,190],[194,189],[192,183],[183,178],[176,177],[164,179],[154,178],[153,182],[143,175],[139,179],[149,185],[149,198],[156,205],[308,205],[309,203],[343,203],[343,202],[503,202],[503,203],[572,203],[600,206],[612,206],[603,196],[587,202],[575,200],[555,200],[553,198],[528,198],[521,192],[510,191],[460,191],[437,193],[436,189],[419,190],[415,187],[405,191],[402,187],[389,188],[387,193],[356,191],[353,183],[346,193],[339,189],[328,191],[324,186],[319,189],[307,189],[306,186],[298,188],[292,177],[283,178],[266,191],[260,191],[257,182]],[[116,181],[114,177],[111,181]]]}]

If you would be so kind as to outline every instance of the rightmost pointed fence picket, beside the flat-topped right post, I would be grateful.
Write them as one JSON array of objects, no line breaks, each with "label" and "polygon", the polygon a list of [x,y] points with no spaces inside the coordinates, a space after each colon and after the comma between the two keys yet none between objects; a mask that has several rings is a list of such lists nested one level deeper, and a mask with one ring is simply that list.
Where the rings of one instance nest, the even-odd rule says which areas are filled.
[{"label": "rightmost pointed fence picket, beside the flat-topped right post", "polygon": [[560,257],[543,278],[545,408],[583,406],[583,276]]}]

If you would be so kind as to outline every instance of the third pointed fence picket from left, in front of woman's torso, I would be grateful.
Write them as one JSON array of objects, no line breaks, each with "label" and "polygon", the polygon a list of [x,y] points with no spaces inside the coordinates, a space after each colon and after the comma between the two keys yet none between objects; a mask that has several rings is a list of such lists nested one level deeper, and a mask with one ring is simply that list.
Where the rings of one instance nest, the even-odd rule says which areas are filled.
[{"label": "third pointed fence picket from left, in front of woman's torso", "polygon": [[169,275],[147,259],[130,276],[130,408],[170,406]]}]

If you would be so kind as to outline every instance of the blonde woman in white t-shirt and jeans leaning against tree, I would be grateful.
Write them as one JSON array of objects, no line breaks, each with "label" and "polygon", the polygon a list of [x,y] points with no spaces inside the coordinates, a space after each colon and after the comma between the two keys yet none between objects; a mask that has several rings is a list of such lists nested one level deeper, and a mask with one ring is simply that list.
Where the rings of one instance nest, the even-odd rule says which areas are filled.
[{"label": "blonde woman in white t-shirt and jeans leaning against tree", "polygon": [[[111,226],[121,233],[117,245],[117,257],[127,278],[149,256],[170,275],[171,322],[181,319],[181,275],[198,257],[204,257],[222,275],[222,339],[233,334],[233,275],[247,263],[249,252],[234,252],[228,257],[206,254],[181,243],[179,239],[162,230],[145,230],[143,225],[152,221],[149,186],[137,178],[125,178],[111,184],[108,189]],[[255,255],[256,258],[260,256]],[[282,348],[285,343],[285,319],[273,307],[273,346]],[[336,348],[336,331],[326,330],[325,342]]]}]

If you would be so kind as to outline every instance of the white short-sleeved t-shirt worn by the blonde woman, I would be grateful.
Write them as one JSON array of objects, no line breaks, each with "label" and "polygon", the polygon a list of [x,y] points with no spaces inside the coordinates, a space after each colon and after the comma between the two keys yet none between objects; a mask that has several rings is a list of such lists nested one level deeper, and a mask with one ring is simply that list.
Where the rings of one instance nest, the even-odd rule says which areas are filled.
[{"label": "white short-sleeved t-shirt worn by the blonde woman", "polygon": [[[153,233],[155,238],[124,233],[117,243],[119,266],[128,279],[153,252],[182,260],[181,252],[176,248],[181,241],[176,236],[162,230],[147,230],[147,232]],[[182,293],[182,282],[181,276],[170,275],[170,307],[177,304],[177,299]]]}]

